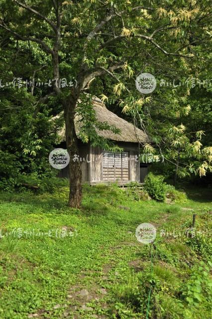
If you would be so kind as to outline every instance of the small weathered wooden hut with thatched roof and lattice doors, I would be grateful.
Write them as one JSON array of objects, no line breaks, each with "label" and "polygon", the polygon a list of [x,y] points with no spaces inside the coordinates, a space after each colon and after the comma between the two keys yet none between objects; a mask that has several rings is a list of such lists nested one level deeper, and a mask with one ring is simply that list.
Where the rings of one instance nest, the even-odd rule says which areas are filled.
[{"label": "small weathered wooden hut with thatched roof and lattice doors", "polygon": [[[122,148],[123,152],[107,152],[99,147],[93,147],[90,143],[82,143],[79,134],[82,121],[79,116],[76,116],[75,130],[79,138],[79,160],[82,166],[83,181],[90,184],[117,181],[121,185],[130,181],[142,182],[147,173],[147,166],[140,168],[140,145],[149,143],[150,139],[142,130],[107,110],[106,105],[99,98],[93,97],[92,103],[99,122],[107,122],[109,126],[120,130],[119,134],[109,130],[97,130],[98,135],[113,141]],[[59,136],[61,142],[65,141],[65,126]],[[60,144],[60,147],[65,148],[65,143]],[[60,176],[68,176],[67,167],[60,172]]]}]

